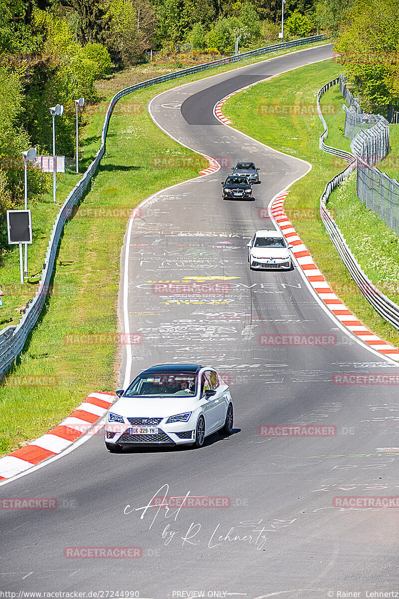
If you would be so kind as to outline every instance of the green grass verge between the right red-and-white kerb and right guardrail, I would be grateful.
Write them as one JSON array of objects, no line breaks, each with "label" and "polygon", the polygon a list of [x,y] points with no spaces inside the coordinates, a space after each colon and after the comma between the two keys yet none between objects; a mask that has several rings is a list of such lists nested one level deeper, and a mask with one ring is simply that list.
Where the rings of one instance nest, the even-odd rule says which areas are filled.
[{"label": "green grass verge between the right red-and-white kerb and right guardrail", "polygon": [[[223,113],[240,131],[313,165],[310,173],[291,187],[285,210],[334,292],[371,331],[398,345],[399,332],[383,320],[360,293],[319,216],[319,198],[325,184],[342,168],[337,168],[333,156],[319,150],[322,125],[316,113],[315,98],[318,90],[338,74],[339,65],[332,60],[303,66],[234,95],[224,105]],[[306,83],[299,85],[299,81]],[[282,99],[284,105],[291,107],[291,114],[259,110],[262,104],[281,106]],[[328,102],[335,100],[323,96],[322,110]],[[306,109],[309,105],[314,106],[313,112]],[[336,118],[334,114],[326,115],[329,127],[331,116]],[[336,144],[336,138],[329,135],[326,143]]]}]

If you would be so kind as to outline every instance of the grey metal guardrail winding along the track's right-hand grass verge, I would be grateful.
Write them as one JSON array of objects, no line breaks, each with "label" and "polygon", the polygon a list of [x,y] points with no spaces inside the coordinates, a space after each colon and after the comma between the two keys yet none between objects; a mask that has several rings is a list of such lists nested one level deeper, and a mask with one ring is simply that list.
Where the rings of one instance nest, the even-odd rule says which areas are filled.
[{"label": "grey metal guardrail winding along the track's right-hand grass verge", "polygon": [[[367,301],[370,302],[374,310],[380,314],[380,316],[391,323],[391,325],[395,326],[395,328],[399,329],[399,305],[395,304],[395,302],[380,292],[374,283],[368,279],[357,259],[351,252],[348,243],[346,243],[339,226],[334,221],[330,211],[328,211],[327,208],[328,198],[331,192],[336,189],[336,187],[342,183],[342,181],[346,179],[346,177],[348,177],[352,171],[354,171],[356,168],[373,171],[377,170],[376,168],[370,167],[361,158],[352,156],[349,154],[349,152],[345,152],[344,150],[339,150],[337,148],[331,148],[330,146],[326,146],[326,144],[324,144],[324,140],[328,135],[328,127],[324,117],[322,116],[320,98],[323,93],[327,91],[327,89],[329,89],[332,85],[335,85],[337,82],[337,79],[330,81],[330,83],[327,83],[324,87],[322,87],[317,95],[317,111],[324,126],[324,132],[320,136],[319,146],[322,150],[324,150],[324,152],[333,153],[335,156],[340,156],[340,158],[349,162],[349,165],[345,168],[345,170],[342,171],[342,173],[337,174],[333,179],[331,179],[331,181],[328,181],[327,185],[325,186],[324,192],[320,198],[321,220],[324,223],[325,230],[327,231],[328,235],[330,235],[331,241],[333,241],[337,252],[342,258],[343,263],[345,264],[346,268],[348,268],[349,274],[357,284],[361,293],[364,295]],[[333,150],[333,152],[330,150]]]}]

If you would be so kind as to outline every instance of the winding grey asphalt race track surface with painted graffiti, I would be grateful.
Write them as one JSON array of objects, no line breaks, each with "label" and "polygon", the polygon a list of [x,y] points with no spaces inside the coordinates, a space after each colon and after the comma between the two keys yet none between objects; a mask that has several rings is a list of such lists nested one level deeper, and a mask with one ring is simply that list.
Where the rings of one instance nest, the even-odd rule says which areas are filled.
[{"label": "winding grey asphalt race track surface with painted graffiti", "polygon": [[[151,102],[154,120],[169,135],[223,168],[157,193],[130,222],[120,318],[126,316],[129,331],[142,334],[143,343],[123,356],[121,381],[126,359],[132,376],[162,362],[212,364],[230,379],[234,434],[211,437],[201,450],[121,455],[110,455],[103,439],[93,437],[4,486],[3,497],[56,497],[60,506],[2,510],[4,588],[113,589],[153,599],[297,599],[328,591],[337,596],[337,589],[392,590],[397,510],[337,509],[333,498],[396,495],[397,453],[383,451],[395,446],[389,425],[398,409],[396,388],[336,385],[334,374],[393,375],[398,367],[352,343],[296,268],[249,271],[246,243],[254,230],[273,226],[266,218],[270,200],[309,165],[221,126],[213,115],[216,102],[232,90],[330,53],[328,46],[303,50],[178,87]],[[261,169],[255,200],[223,201],[227,163],[249,157]],[[225,292],[177,286],[203,281],[224,282]],[[167,293],[157,292],[159,282]],[[284,334],[327,335],[333,344],[270,343]],[[323,425],[336,434],[263,436],[270,432],[266,425],[281,424]],[[191,505],[203,505],[203,497],[225,501],[145,509],[153,496],[187,493],[201,498]],[[141,547],[142,557],[102,561],[64,553],[77,546]]]}]

